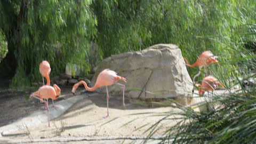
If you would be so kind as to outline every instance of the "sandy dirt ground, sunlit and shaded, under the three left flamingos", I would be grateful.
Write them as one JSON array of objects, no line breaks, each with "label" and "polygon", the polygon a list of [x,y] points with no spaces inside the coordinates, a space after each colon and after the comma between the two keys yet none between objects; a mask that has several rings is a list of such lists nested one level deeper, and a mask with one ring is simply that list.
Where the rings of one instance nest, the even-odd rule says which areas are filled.
[{"label": "sandy dirt ground, sunlit and shaded, under the three left flamingos", "polygon": [[[71,94],[71,86],[60,87],[62,92],[57,101],[75,97]],[[82,87],[78,88],[81,92]],[[10,91],[7,87],[1,87],[0,90],[0,126],[10,124],[19,118],[26,117],[34,111],[43,110],[43,103],[35,99],[25,99],[30,95],[29,92]],[[82,138],[82,137],[146,137],[148,132],[144,133],[152,124],[157,122],[162,116],[154,114],[173,110],[170,107],[159,107],[153,105],[140,105],[135,100],[125,98],[126,110],[123,109],[122,97],[110,95],[109,99],[109,117],[103,118],[107,114],[106,94],[100,93],[82,93],[89,95],[75,103],[60,117],[48,123],[42,123],[26,130],[20,130],[6,136],[9,139],[28,140],[47,139],[47,138]],[[50,100],[51,101],[51,100]],[[143,113],[135,115],[137,113]],[[113,120],[113,121],[112,121]],[[167,126],[175,124],[165,122],[163,131]],[[158,135],[160,133],[156,133]]]}]

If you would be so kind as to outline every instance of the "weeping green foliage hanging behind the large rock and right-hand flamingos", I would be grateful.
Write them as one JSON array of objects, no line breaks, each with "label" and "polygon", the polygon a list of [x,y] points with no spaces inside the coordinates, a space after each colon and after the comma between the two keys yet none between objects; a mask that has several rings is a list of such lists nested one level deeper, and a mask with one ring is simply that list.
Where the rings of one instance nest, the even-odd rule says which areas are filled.
[{"label": "weeping green foliage hanging behind the large rock and right-hand flamingos", "polygon": [[[242,52],[242,43],[255,42],[253,36],[241,37],[244,31],[239,31],[255,21],[254,6],[253,0],[94,1],[97,43],[103,58],[157,43],[173,43],[193,63],[203,51],[211,50],[221,63],[221,68],[211,66],[212,71],[217,75],[226,73],[227,78],[236,71],[237,59],[250,54]],[[197,68],[188,71],[193,77]]]}]

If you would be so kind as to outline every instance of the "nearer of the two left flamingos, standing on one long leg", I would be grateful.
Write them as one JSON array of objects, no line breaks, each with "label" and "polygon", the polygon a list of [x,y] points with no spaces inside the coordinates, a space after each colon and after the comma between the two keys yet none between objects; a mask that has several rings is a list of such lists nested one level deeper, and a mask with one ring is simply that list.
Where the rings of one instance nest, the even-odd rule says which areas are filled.
[{"label": "nearer of the two left flamingos, standing on one long leg", "polygon": [[[39,99],[41,101],[44,101],[43,99],[46,99],[46,101],[44,101],[47,111],[48,111],[48,124],[50,127],[50,114],[49,114],[49,105],[48,105],[48,99],[51,98],[52,100],[57,99],[60,96],[60,87],[56,84],[54,84],[53,86],[50,85],[43,85],[41,86],[38,91],[32,93],[30,95],[31,97],[34,97],[36,99]],[[36,97],[38,96],[38,97]]]}]

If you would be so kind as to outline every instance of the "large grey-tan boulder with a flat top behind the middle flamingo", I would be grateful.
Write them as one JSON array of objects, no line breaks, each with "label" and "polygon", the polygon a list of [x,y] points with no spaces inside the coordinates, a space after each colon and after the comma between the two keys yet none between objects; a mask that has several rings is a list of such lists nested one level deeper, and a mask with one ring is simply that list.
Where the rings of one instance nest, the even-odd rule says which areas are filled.
[{"label": "large grey-tan boulder with a flat top behind the middle flamingo", "polygon": [[[157,44],[142,51],[106,58],[95,71],[92,84],[100,71],[106,68],[127,79],[127,83],[119,83],[125,84],[125,95],[131,98],[184,98],[193,89],[181,51],[174,44]],[[106,93],[105,87],[98,91]],[[122,88],[109,86],[109,92],[122,95]]]}]

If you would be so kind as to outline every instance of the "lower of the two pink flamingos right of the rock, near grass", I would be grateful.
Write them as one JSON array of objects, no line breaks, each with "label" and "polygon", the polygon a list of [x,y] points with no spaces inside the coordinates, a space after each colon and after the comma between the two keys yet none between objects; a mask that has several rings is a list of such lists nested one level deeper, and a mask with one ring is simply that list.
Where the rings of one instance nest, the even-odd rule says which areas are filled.
[{"label": "lower of the two pink flamingos right of the rock, near grass", "polygon": [[198,90],[199,95],[204,95],[204,92],[208,92],[208,96],[209,96],[209,91],[212,91],[212,95],[213,95],[213,90],[217,89],[219,85],[224,87],[224,85],[222,85],[218,81],[218,79],[213,76],[206,76],[202,81],[202,85],[196,84],[196,86],[199,87],[199,90]]}]

